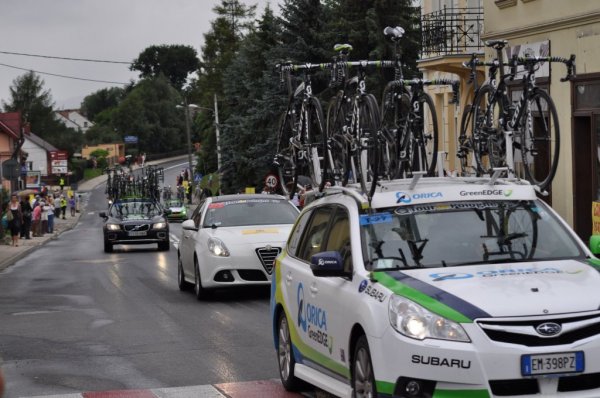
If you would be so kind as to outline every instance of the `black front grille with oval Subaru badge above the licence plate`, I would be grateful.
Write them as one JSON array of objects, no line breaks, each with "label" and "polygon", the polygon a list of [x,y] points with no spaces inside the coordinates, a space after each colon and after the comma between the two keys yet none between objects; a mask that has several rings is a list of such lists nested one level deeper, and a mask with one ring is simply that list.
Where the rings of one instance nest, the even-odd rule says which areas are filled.
[{"label": "black front grille with oval Subaru badge above the licence plate", "polygon": [[[536,328],[546,322],[557,323],[562,331],[556,336],[538,334]],[[480,319],[477,325],[493,341],[527,347],[572,344],[600,334],[600,313],[538,317],[532,319]]]}]

